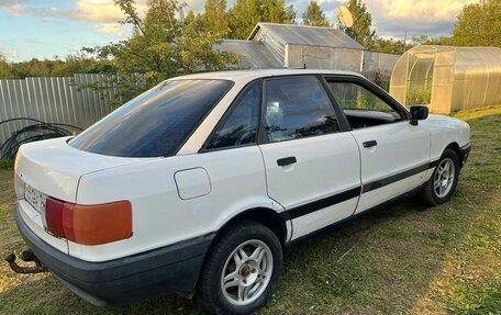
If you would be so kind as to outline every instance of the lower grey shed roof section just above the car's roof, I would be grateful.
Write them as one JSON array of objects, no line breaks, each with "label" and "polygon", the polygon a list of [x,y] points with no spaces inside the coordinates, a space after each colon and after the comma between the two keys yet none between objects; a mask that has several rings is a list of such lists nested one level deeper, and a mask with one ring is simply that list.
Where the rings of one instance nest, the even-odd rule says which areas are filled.
[{"label": "lower grey shed roof section just above the car's roof", "polygon": [[222,40],[215,44],[215,49],[241,55],[240,66],[245,68],[283,68],[283,61],[263,42]]}]

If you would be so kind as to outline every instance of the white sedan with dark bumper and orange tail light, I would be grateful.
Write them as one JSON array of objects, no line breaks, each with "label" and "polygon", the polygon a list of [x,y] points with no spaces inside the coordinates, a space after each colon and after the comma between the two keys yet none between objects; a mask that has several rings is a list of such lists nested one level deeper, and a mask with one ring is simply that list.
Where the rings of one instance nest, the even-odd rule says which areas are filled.
[{"label": "white sedan with dark bumper and orange tail light", "polygon": [[92,304],[198,290],[246,314],[286,246],[411,192],[447,202],[469,150],[467,123],[358,74],[198,74],[21,146],[15,220],[37,265]]}]

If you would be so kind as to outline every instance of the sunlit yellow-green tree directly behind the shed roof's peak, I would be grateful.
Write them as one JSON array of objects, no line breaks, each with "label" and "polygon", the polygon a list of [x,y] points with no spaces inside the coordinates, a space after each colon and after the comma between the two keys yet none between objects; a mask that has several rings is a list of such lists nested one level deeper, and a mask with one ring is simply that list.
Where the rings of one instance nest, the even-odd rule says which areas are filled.
[{"label": "sunlit yellow-green tree directly behind the shed roof's peak", "polygon": [[245,40],[258,22],[292,24],[296,11],[285,0],[236,0],[227,12],[231,38]]}]

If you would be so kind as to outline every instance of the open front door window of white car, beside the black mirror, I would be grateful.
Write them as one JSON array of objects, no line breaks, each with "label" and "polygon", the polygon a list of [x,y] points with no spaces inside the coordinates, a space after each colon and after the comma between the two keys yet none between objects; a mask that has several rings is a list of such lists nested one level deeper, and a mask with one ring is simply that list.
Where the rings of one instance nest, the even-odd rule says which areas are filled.
[{"label": "open front door window of white car, beside the black mirror", "polygon": [[368,89],[354,82],[329,81],[332,94],[352,128],[370,127],[403,120],[387,102]]}]

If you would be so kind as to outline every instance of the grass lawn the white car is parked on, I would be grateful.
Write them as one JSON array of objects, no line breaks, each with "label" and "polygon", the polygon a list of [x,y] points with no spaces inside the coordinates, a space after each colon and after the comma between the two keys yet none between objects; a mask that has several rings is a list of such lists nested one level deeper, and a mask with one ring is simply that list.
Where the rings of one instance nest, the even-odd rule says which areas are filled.
[{"label": "grass lawn the white car is parked on", "polygon": [[[472,151],[453,200],[371,212],[287,249],[282,280],[259,314],[501,314],[501,106],[455,116]],[[0,254],[23,249],[12,170],[0,170]],[[0,265],[0,314],[203,314],[177,295],[102,310],[49,274]]]}]

